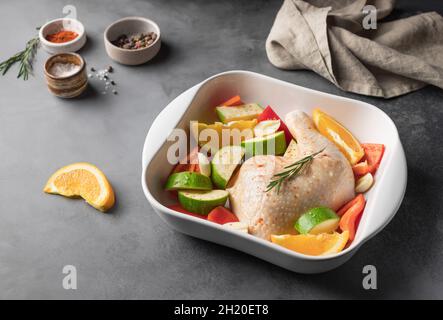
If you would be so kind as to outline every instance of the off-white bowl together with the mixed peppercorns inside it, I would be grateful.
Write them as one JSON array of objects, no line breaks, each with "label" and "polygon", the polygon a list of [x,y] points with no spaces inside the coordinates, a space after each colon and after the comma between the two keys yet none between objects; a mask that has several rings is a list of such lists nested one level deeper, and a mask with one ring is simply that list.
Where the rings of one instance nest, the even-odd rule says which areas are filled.
[{"label": "off-white bowl together with the mixed peppercorns inside it", "polygon": [[121,64],[148,62],[160,50],[160,28],[147,18],[127,17],[115,21],[104,33],[108,56]]}]

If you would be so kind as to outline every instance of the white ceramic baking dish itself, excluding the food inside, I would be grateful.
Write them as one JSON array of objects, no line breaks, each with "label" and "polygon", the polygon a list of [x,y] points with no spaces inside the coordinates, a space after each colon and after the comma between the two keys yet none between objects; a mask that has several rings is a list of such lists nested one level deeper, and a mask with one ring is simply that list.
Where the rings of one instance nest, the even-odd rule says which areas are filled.
[{"label": "white ceramic baking dish itself, excluding the food inside", "polygon": [[[215,121],[214,106],[236,94],[240,94],[244,101],[271,105],[283,119],[286,113],[294,109],[312,114],[312,109],[321,107],[349,128],[360,141],[385,144],[386,152],[375,176],[376,183],[365,194],[367,205],[356,238],[347,249],[331,256],[306,256],[252,235],[172,211],[165,206],[176,203],[163,189],[173,167],[166,160],[168,146],[172,143],[166,139],[171,130],[176,127],[189,130],[191,120]],[[217,74],[175,98],[149,129],[142,161],[141,183],[146,198],[171,227],[300,273],[328,271],[351,258],[363,243],[394,217],[402,202],[407,181],[406,158],[397,129],[383,111],[361,101],[303,88],[248,71]]]}]

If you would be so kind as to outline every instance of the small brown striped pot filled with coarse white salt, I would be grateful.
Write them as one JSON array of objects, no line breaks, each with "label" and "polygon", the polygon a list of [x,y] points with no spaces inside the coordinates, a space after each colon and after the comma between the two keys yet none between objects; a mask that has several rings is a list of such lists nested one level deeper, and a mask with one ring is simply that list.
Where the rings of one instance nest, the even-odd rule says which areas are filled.
[{"label": "small brown striped pot filled with coarse white salt", "polygon": [[59,53],[45,62],[45,78],[49,91],[61,98],[74,98],[88,85],[86,62],[77,53]]}]

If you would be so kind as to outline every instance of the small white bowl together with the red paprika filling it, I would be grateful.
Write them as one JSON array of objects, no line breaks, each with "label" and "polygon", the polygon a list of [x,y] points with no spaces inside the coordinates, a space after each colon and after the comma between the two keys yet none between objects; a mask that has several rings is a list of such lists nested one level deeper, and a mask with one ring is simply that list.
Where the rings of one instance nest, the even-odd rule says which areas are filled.
[{"label": "small white bowl together with the red paprika filling it", "polygon": [[76,52],[86,43],[85,27],[72,18],[47,22],[40,28],[39,37],[43,49],[50,54]]}]

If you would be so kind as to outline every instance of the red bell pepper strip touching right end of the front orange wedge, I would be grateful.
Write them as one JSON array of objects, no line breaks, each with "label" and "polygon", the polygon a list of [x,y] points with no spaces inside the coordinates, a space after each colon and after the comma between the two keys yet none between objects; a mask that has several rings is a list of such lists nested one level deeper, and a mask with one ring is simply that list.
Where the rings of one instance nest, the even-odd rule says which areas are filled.
[{"label": "red bell pepper strip touching right end of the front orange wedge", "polygon": [[360,222],[359,218],[363,213],[365,205],[365,197],[363,197],[362,194],[359,194],[337,212],[337,214],[341,216],[339,224],[340,229],[342,231],[349,231],[349,241],[352,241],[355,238],[358,223]]}]

